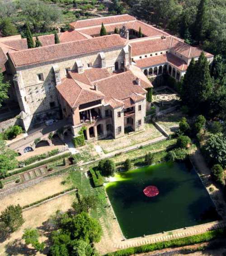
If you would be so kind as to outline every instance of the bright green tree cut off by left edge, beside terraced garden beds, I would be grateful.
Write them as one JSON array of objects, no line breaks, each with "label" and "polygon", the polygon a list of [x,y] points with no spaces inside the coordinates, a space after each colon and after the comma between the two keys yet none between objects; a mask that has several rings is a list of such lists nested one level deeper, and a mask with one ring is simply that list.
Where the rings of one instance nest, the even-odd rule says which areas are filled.
[{"label": "bright green tree cut off by left edge, beside terraced garden beds", "polygon": [[17,153],[6,147],[5,141],[0,138],[0,178],[5,177],[7,171],[17,167]]}]

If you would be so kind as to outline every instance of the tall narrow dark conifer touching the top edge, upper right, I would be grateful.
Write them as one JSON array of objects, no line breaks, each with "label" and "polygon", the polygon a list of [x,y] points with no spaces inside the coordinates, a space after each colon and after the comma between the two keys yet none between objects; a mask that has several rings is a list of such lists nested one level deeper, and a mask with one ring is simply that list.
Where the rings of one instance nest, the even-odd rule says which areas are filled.
[{"label": "tall narrow dark conifer touching the top edge, upper right", "polygon": [[194,38],[203,42],[208,28],[207,0],[200,0],[194,24]]}]

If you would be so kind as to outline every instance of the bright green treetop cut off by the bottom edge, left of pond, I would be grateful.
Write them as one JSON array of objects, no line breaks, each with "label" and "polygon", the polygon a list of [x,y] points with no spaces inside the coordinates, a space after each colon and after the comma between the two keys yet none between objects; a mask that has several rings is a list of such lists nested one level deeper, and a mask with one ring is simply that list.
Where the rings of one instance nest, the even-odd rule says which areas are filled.
[{"label": "bright green treetop cut off by the bottom edge, left of pond", "polygon": [[95,249],[91,245],[83,240],[72,242],[74,256],[93,256]]}]

